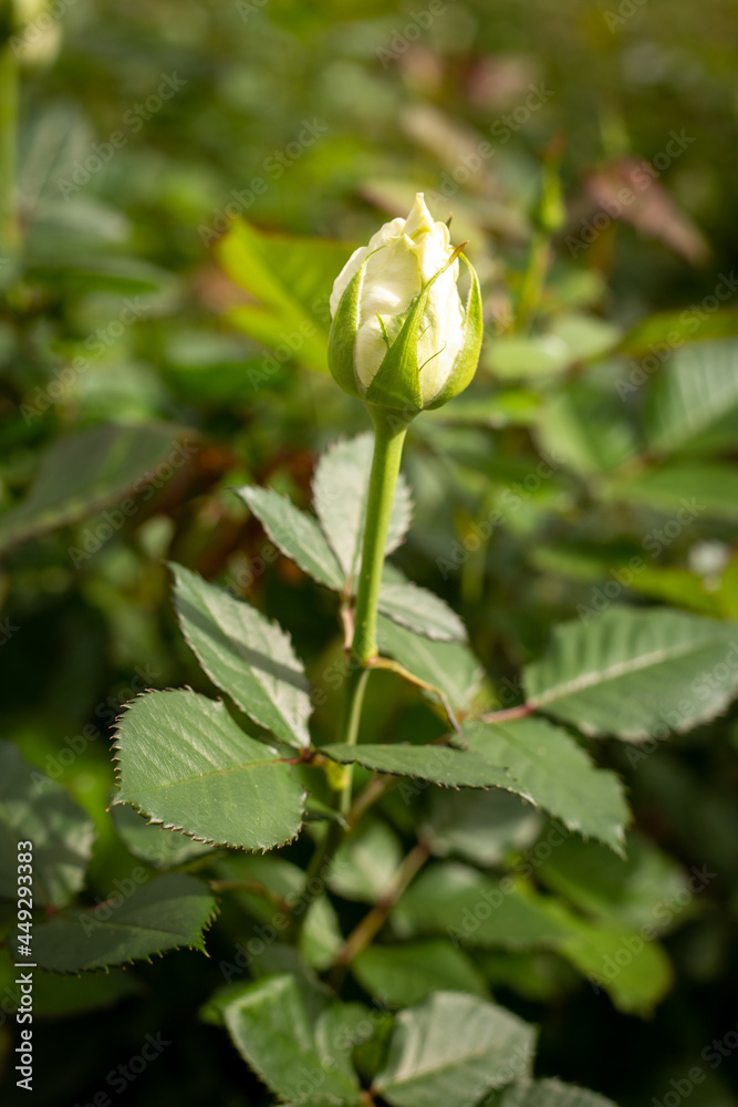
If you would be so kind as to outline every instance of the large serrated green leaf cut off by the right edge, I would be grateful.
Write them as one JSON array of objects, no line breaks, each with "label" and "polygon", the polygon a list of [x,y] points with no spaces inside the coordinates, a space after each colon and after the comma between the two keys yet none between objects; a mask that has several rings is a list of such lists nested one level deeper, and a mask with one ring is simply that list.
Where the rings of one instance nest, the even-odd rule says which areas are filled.
[{"label": "large serrated green leaf cut off by the right edge", "polygon": [[610,608],[558,627],[526,670],[532,705],[585,734],[638,741],[720,714],[738,689],[738,627],[680,611]]}]

